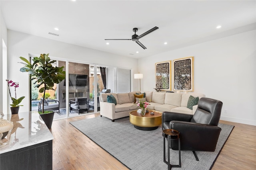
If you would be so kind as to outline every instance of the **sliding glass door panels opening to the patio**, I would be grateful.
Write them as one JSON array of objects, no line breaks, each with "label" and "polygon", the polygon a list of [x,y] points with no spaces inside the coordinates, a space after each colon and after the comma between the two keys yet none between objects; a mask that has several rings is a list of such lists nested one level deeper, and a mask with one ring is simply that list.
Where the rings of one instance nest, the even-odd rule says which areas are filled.
[{"label": "sliding glass door panels opening to the patio", "polygon": [[[44,108],[55,111],[55,120],[99,112],[99,97],[104,89],[109,89],[108,92],[112,93],[131,90],[130,69],[70,61],[56,61],[53,65],[64,66],[66,71],[65,80],[55,84],[54,90],[47,90],[45,95]],[[36,82],[30,82],[30,109],[37,111],[42,109],[40,102],[43,96],[35,84]]]}]

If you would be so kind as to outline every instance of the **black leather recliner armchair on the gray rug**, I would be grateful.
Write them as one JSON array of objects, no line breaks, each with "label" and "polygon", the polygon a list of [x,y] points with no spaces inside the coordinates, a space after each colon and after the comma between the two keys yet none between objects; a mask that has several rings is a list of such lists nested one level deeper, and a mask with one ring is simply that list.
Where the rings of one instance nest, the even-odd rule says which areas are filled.
[{"label": "black leather recliner armchair on the gray rug", "polygon": [[[200,98],[194,115],[164,111],[162,129],[180,132],[180,149],[195,151],[214,151],[221,128],[218,127],[222,102],[211,98]],[[178,141],[172,140],[170,148],[178,150]]]}]

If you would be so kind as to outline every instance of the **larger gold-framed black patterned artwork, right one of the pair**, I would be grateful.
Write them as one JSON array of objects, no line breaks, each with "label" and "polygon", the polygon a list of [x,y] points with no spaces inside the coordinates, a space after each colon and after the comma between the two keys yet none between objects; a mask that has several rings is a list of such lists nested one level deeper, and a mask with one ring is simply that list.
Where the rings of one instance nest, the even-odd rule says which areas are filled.
[{"label": "larger gold-framed black patterned artwork, right one of the pair", "polygon": [[173,90],[194,91],[194,57],[173,60]]}]

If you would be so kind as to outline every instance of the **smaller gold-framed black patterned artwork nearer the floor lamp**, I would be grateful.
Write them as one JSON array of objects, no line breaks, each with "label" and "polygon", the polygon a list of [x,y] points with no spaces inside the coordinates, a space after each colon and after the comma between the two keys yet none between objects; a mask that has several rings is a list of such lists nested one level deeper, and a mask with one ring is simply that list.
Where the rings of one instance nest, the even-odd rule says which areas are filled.
[{"label": "smaller gold-framed black patterned artwork nearer the floor lamp", "polygon": [[171,90],[171,61],[155,64],[156,88]]}]

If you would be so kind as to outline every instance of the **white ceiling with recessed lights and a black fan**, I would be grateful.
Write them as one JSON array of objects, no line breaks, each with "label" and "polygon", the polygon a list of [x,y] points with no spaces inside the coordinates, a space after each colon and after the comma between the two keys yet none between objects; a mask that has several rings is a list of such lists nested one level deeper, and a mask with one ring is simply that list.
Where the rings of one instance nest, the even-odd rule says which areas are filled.
[{"label": "white ceiling with recessed lights and a black fan", "polygon": [[[256,29],[255,0],[1,0],[0,6],[10,30],[134,58]],[[145,50],[132,40],[104,40],[131,39],[134,27],[141,35],[155,26],[139,39]]]}]

